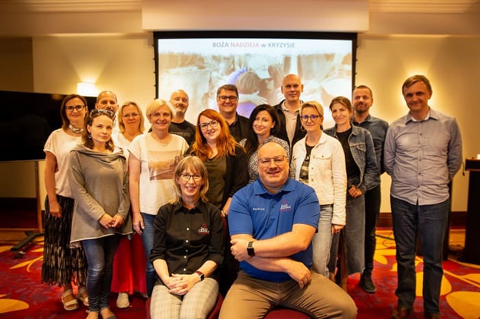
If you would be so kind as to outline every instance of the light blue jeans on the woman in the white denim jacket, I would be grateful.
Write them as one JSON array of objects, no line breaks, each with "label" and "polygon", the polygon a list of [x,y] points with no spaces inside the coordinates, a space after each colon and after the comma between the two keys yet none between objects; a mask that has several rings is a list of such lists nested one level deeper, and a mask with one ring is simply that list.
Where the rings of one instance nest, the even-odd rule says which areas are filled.
[{"label": "light blue jeans on the woman in the white denim jacket", "polygon": [[320,206],[320,221],[318,231],[313,235],[313,270],[328,278],[326,264],[330,259],[330,246],[332,244],[332,215],[333,205]]}]

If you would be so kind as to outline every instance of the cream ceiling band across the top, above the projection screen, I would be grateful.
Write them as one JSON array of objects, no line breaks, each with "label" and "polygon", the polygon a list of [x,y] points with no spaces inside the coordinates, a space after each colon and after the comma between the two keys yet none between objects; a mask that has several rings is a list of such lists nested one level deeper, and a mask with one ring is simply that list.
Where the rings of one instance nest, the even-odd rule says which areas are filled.
[{"label": "cream ceiling band across the top, above the projection screen", "polygon": [[[45,36],[49,34],[138,34],[145,31],[143,18],[145,8],[156,5],[162,8],[190,10],[188,14],[196,14],[200,9],[224,10],[211,5],[202,5],[195,0],[0,0],[0,36]],[[243,0],[247,1],[247,0]],[[258,1],[258,0],[256,0]],[[214,1],[215,2],[215,1]],[[338,31],[360,31],[373,35],[390,34],[442,34],[442,35],[479,35],[480,34],[480,1],[478,0],[297,0],[291,9],[291,0],[261,0],[261,4],[275,3],[272,12],[257,13],[257,18],[274,20],[290,17],[292,30],[304,30],[302,18],[320,17],[322,12],[309,11],[306,8],[322,8],[337,6],[338,16],[322,16],[334,21],[339,18],[348,21],[348,10],[342,16],[344,8],[361,6],[365,8],[367,24],[357,30],[344,29]],[[222,2],[223,3],[223,2]],[[259,4],[259,2],[256,2]],[[298,5],[300,3],[300,5]],[[150,7],[149,7],[150,6]],[[289,7],[290,6],[290,7]],[[192,10],[193,8],[193,10]],[[205,9],[204,9],[205,8]],[[263,5],[265,8],[265,5]],[[278,9],[280,8],[280,9]],[[285,10],[279,15],[279,10]],[[236,8],[232,14],[236,14]],[[295,11],[296,10],[296,11]],[[185,12],[169,10],[162,12],[172,19],[182,18]],[[338,11],[338,10],[337,10]],[[223,11],[221,11],[223,12]],[[211,14],[215,16],[215,12]],[[239,14],[240,16],[241,14]],[[259,17],[258,17],[259,16]],[[208,16],[210,17],[210,16]],[[241,16],[245,18],[245,16]],[[350,20],[354,20],[352,18]],[[317,21],[320,20],[317,18]],[[187,19],[186,19],[187,21]],[[335,21],[334,21],[335,22]],[[196,25],[188,25],[186,29],[194,29]],[[211,25],[211,28],[224,28],[224,25]],[[240,25],[243,27],[243,23]],[[252,25],[250,29],[263,29],[263,25]],[[200,27],[201,28],[201,27]],[[243,27],[244,28],[244,27]],[[169,29],[168,27],[165,29]],[[272,29],[279,29],[277,26]],[[311,31],[332,31],[322,29],[322,25],[307,25]]]}]

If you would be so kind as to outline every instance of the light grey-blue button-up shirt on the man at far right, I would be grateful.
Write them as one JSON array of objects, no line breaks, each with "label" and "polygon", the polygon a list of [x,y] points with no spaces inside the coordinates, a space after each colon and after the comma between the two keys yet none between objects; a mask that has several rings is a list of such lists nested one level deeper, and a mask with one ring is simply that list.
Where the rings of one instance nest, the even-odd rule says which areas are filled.
[{"label": "light grey-blue button-up shirt on the man at far right", "polygon": [[407,114],[390,125],[385,138],[385,171],[390,194],[413,205],[442,203],[462,163],[457,120],[430,109],[424,120]]}]

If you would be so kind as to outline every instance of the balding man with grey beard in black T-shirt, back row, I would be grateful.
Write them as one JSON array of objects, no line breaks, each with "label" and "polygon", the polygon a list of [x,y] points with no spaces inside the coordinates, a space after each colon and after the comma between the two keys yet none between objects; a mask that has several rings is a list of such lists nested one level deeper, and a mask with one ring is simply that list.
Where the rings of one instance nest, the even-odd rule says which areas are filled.
[{"label": "balding man with grey beard in black T-shirt, back row", "polygon": [[191,146],[195,142],[195,125],[185,120],[185,113],[189,108],[189,96],[184,90],[176,90],[171,93],[170,103],[175,108],[175,115],[171,118],[169,133],[182,136]]}]

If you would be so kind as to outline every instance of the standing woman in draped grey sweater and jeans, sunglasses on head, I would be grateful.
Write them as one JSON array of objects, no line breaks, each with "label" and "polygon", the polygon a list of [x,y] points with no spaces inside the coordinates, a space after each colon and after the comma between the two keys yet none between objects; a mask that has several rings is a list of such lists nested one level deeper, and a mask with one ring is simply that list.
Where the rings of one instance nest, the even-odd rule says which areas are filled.
[{"label": "standing woman in draped grey sweater and jeans, sunglasses on head", "polygon": [[108,307],[113,257],[121,236],[132,233],[127,166],[122,149],[112,142],[112,118],[108,110],[92,110],[83,144],[70,153],[75,198],[70,243],[82,244],[88,261],[88,319],[97,319],[99,314],[116,318]]}]

